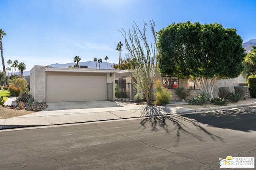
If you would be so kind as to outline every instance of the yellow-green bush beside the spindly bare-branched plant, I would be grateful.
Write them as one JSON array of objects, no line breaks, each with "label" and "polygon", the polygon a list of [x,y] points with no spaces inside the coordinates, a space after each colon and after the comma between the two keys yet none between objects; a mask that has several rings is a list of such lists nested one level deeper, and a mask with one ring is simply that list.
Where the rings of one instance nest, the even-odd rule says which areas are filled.
[{"label": "yellow-green bush beside the spindly bare-branched plant", "polygon": [[170,102],[172,97],[172,92],[170,90],[167,90],[166,88],[163,88],[162,82],[160,80],[156,80],[156,101],[154,102],[155,105],[166,105]]}]

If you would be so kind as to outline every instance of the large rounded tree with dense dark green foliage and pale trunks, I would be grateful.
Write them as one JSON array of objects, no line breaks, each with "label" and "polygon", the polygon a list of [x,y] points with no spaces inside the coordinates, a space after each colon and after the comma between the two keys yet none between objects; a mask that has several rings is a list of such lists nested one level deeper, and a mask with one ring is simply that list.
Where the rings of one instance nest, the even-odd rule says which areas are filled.
[{"label": "large rounded tree with dense dark green foliage and pale trunks", "polygon": [[158,32],[158,48],[161,73],[190,78],[212,98],[218,79],[236,78],[243,70],[240,35],[219,23],[173,23]]}]

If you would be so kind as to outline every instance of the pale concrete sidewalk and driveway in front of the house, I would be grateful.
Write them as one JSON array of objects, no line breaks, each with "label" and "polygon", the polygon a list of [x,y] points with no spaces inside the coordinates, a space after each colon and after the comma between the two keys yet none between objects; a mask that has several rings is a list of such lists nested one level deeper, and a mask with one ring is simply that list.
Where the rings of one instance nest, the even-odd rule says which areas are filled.
[{"label": "pale concrete sidewalk and driveway in front of the house", "polygon": [[[8,102],[8,100],[6,102]],[[12,117],[9,119],[0,119],[0,129],[86,123],[158,115],[183,115],[202,111],[248,107],[254,105],[256,105],[256,100],[250,100],[242,104],[230,104],[229,106],[200,106],[201,108],[197,108],[199,106],[180,104],[169,106],[143,106],[108,101],[48,103],[48,107],[43,111],[19,117]]]}]

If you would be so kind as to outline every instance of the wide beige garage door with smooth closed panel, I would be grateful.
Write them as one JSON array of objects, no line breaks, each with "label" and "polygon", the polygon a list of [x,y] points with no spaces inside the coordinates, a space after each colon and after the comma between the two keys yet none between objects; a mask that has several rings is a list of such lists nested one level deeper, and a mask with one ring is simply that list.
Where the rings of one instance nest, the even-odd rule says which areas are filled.
[{"label": "wide beige garage door with smooth closed panel", "polygon": [[46,102],[106,100],[106,76],[46,75]]}]

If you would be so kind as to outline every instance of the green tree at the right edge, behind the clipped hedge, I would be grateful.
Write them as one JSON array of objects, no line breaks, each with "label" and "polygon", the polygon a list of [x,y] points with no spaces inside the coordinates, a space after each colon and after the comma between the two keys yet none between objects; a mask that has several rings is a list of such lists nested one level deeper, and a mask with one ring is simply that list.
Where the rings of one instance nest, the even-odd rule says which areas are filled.
[{"label": "green tree at the right edge, behind the clipped hedge", "polygon": [[242,75],[244,77],[248,78],[251,75],[256,75],[256,46],[252,46],[252,49],[249,51],[248,54],[246,54],[243,65],[244,70],[242,72]]}]

